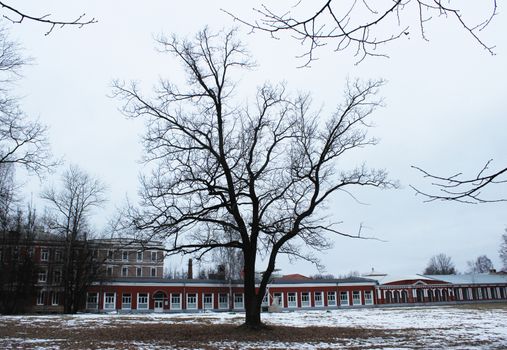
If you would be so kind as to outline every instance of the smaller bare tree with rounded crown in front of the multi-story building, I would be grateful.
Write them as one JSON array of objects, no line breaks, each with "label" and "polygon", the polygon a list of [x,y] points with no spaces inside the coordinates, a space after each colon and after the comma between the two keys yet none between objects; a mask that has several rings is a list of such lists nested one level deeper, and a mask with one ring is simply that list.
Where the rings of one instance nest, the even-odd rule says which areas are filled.
[{"label": "smaller bare tree with rounded crown in front of the multi-story building", "polygon": [[88,245],[89,218],[93,209],[105,202],[105,186],[76,166],[63,174],[62,185],[44,190],[41,197],[51,206],[48,226],[65,240],[64,311],[75,313],[81,307],[86,288],[96,273]]}]

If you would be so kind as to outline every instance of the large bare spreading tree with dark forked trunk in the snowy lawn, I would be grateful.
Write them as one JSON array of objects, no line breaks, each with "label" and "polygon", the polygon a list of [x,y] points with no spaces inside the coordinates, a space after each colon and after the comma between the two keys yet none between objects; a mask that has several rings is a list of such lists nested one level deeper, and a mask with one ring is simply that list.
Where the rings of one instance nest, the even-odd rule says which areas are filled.
[{"label": "large bare spreading tree with dark forked trunk in the snowy lawn", "polygon": [[[355,186],[394,186],[384,170],[338,164],[349,151],[376,144],[366,130],[382,82],[349,83],[345,101],[325,119],[308,95],[291,97],[284,85],[263,85],[252,105],[241,107],[230,76],[251,61],[234,31],[204,29],[195,40],[159,43],[182,63],[188,86],[163,81],[148,98],[134,83],[115,83],[125,115],[148,121],[144,146],[154,167],[142,178],[140,208],[130,208],[128,223],[148,239],[165,238],[168,253],[240,250],[245,326],[260,327],[279,254],[317,263],[311,249],[329,248],[331,237],[361,238],[325,219],[326,201]],[[256,281],[261,260],[266,266]]]}]

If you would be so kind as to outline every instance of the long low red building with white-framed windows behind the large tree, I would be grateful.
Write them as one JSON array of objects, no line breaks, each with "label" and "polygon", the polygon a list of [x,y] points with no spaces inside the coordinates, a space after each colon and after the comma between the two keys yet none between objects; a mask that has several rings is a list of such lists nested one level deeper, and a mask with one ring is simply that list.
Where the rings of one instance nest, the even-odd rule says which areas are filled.
[{"label": "long low red building with white-framed windows behind the large tree", "polygon": [[[507,301],[507,275],[378,275],[312,279],[288,275],[274,279],[265,310],[371,307],[427,303]],[[124,278],[94,283],[87,294],[91,312],[241,311],[241,281]]]}]

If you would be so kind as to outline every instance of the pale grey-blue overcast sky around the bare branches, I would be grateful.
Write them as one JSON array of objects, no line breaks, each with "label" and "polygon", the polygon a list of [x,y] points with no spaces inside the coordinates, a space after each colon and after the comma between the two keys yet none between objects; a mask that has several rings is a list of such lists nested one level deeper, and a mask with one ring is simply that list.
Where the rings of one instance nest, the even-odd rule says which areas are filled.
[{"label": "pale grey-blue overcast sky around the bare branches", "polygon": [[[24,111],[50,127],[55,155],[64,157],[67,164],[78,164],[108,186],[110,201],[95,216],[98,229],[127,195],[135,198],[138,175],[144,168],[139,162],[143,124],[126,120],[118,112],[121,102],[108,97],[111,81],[136,80],[147,92],[159,77],[183,81],[181,67],[155,50],[153,38],[162,33],[186,37],[205,25],[215,30],[238,25],[220,9],[254,18],[251,9],[256,2],[244,3],[60,0],[19,5],[33,14],[51,13],[55,19],[82,12],[98,19],[81,29],[55,29],[49,36],[44,36],[48,28],[42,24],[13,25],[3,20],[11,37],[24,47],[24,54],[34,59],[17,85]],[[474,175],[489,159],[494,159],[494,168],[507,165],[507,20],[502,12],[500,8],[481,32],[486,43],[496,45],[496,56],[489,55],[455,22],[441,18],[429,24],[430,41],[426,42],[417,33],[414,17],[411,35],[382,49],[389,59],[367,59],[357,66],[350,53],[336,54],[327,47],[318,52],[319,60],[311,68],[298,69],[301,61],[295,56],[302,52],[298,43],[288,37],[272,40],[261,33],[247,35],[243,30],[243,40],[258,63],[255,71],[242,77],[244,98],[252,98],[255,86],[263,81],[285,81],[290,90],[310,91],[325,112],[340,103],[347,77],[388,81],[381,91],[386,107],[375,113],[372,130],[381,142],[361,150],[351,161],[385,168],[402,186],[356,192],[366,204],[349,197],[335,197],[329,203],[344,230],[355,232],[363,223],[366,234],[383,241],[337,239],[334,248],[321,255],[328,273],[371,268],[420,273],[429,258],[440,252],[450,255],[459,271],[465,270],[467,260],[482,254],[499,267],[506,203],[423,203],[409,184],[425,185],[410,165],[447,175],[458,171]],[[56,175],[43,183],[29,180],[27,199],[32,196],[42,207],[37,199],[40,190],[55,181]],[[492,191],[507,197],[505,187]],[[173,263],[180,262],[173,259]],[[290,264],[281,259],[278,267],[284,273],[317,273],[304,262]]]}]

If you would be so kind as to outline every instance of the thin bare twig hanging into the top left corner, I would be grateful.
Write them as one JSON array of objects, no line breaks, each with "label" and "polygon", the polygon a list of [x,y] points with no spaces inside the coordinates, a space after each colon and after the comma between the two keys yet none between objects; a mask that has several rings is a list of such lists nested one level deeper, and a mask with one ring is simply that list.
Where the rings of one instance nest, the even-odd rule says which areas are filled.
[{"label": "thin bare twig hanging into the top left corner", "polygon": [[12,23],[19,24],[23,21],[33,21],[33,22],[39,22],[44,23],[49,26],[49,30],[46,32],[46,35],[51,34],[53,29],[55,27],[63,28],[65,26],[76,26],[76,27],[83,27],[87,24],[97,23],[97,20],[95,18],[88,19],[86,18],[86,14],[83,13],[82,15],[79,15],[73,20],[55,20],[51,19],[51,14],[47,13],[44,15],[31,15],[25,11],[19,10],[19,8],[16,6],[12,6],[7,4],[5,1],[0,1],[0,7],[2,8],[3,12],[6,13],[3,15],[3,17],[7,20],[9,20]]}]

